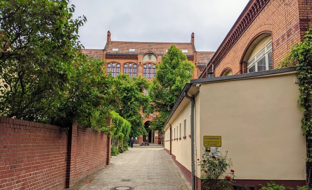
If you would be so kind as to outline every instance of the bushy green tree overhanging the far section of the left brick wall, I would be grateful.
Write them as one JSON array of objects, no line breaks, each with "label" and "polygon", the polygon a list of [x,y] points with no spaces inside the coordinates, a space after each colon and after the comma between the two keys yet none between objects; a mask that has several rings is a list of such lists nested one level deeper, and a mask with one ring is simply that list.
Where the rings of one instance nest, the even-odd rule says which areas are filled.
[{"label": "bushy green tree overhanging the far section of the left brick wall", "polygon": [[103,64],[100,59],[89,59],[83,54],[75,57],[66,87],[45,99],[51,102],[43,106],[49,108],[47,123],[68,126],[68,118],[74,118],[80,126],[109,133],[106,119],[112,108],[112,78],[105,75]]}]

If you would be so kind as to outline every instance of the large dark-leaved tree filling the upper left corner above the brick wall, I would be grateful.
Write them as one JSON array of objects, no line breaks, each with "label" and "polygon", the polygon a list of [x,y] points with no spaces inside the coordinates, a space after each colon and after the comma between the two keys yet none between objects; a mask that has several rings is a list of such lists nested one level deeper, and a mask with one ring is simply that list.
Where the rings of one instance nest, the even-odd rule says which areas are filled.
[{"label": "large dark-leaved tree filling the upper left corner above the brick wall", "polygon": [[0,3],[0,115],[44,120],[42,107],[61,93],[81,48],[69,0],[2,0]]}]

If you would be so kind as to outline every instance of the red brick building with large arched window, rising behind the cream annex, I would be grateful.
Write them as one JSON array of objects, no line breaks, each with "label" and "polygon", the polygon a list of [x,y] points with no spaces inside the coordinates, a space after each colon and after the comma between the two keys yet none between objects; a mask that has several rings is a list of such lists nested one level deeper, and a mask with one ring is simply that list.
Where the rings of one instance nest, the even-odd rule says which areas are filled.
[{"label": "red brick building with large arched window, rising behind the cream annex", "polygon": [[199,78],[276,68],[311,19],[312,0],[250,0]]}]

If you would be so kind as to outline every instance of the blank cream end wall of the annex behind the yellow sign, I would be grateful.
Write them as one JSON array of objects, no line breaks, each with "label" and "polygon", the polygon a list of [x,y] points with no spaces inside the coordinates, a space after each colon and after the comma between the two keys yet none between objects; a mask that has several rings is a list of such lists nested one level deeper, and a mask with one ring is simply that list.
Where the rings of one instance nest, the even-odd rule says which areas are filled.
[{"label": "blank cream end wall of the annex behind the yellow sign", "polygon": [[295,77],[291,72],[202,84],[201,146],[205,135],[221,136],[221,152],[228,151],[236,179],[306,179]]}]

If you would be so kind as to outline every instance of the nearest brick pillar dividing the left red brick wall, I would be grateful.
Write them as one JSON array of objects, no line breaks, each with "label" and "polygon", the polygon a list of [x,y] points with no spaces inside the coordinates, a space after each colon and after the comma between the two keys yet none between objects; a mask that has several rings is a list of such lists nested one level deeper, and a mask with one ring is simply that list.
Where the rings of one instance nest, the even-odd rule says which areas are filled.
[{"label": "nearest brick pillar dividing the left red brick wall", "polygon": [[72,127],[68,131],[65,188],[70,188],[71,185],[73,185],[75,168],[76,168],[77,130],[78,130],[78,123],[77,121],[73,121]]}]

